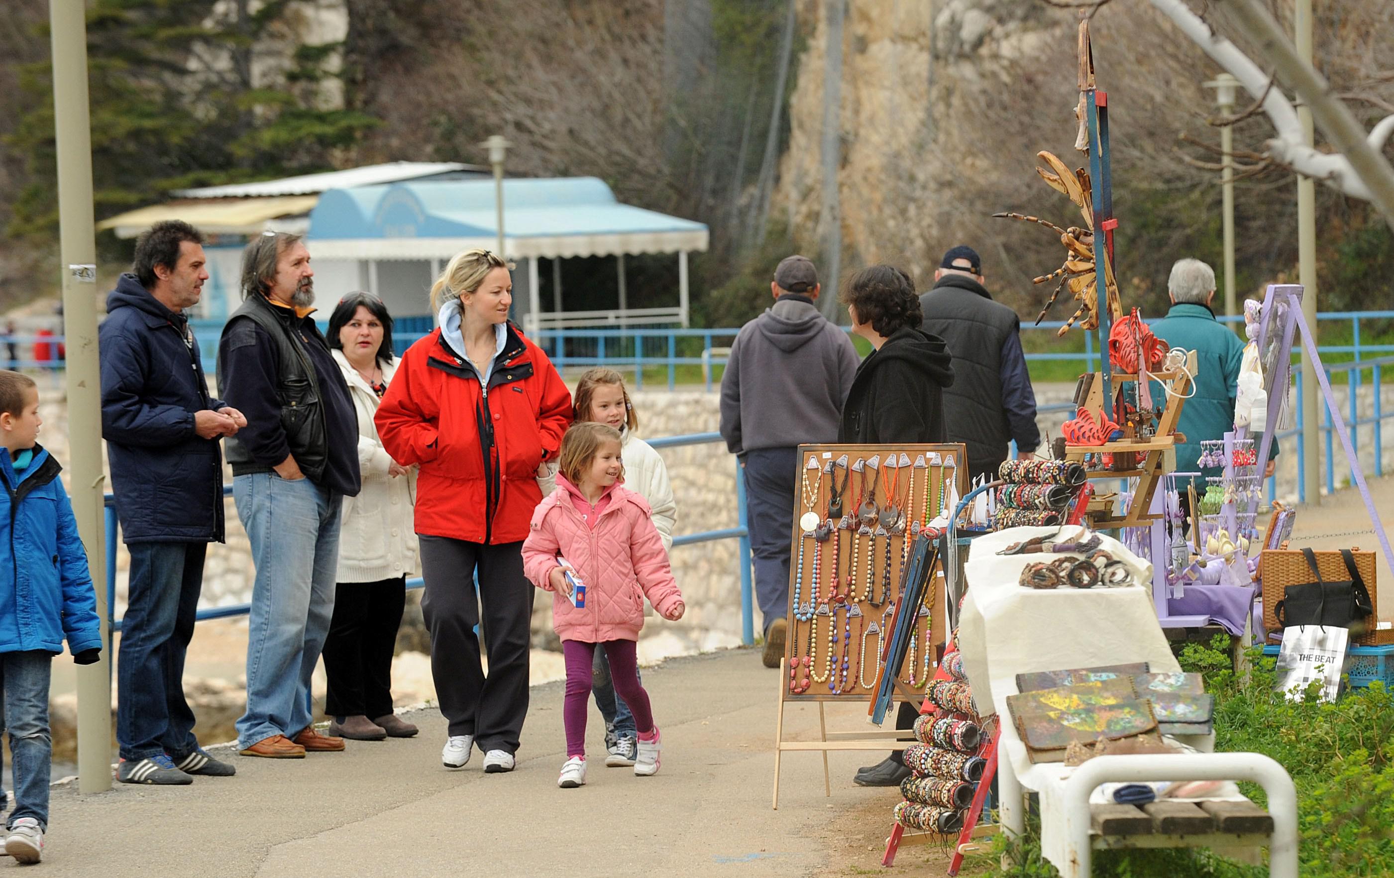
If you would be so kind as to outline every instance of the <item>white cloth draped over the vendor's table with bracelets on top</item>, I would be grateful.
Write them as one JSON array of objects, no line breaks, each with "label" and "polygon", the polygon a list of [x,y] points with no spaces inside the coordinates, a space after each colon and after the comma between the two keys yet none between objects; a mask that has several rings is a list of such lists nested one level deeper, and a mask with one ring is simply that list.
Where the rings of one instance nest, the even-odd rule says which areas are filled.
[{"label": "white cloth draped over the vendor's table with bracelets on top", "polygon": [[[1026,744],[1006,711],[1006,697],[1016,694],[1016,675],[1131,662],[1147,662],[1153,673],[1177,672],[1181,666],[1157,623],[1149,588],[1043,591],[1018,584],[1026,564],[1058,556],[999,556],[997,552],[1057,530],[1018,527],[973,541],[963,567],[967,596],[959,617],[959,649],[979,712],[984,718],[994,712],[1001,716],[998,747],[1005,750],[1022,786],[1041,794],[1041,853],[1061,865],[1065,839],[1050,815],[1058,812],[1057,797],[1073,769],[1061,762],[1033,765],[1027,758]],[[1073,531],[1066,528],[1069,532]],[[1151,583],[1151,564],[1121,542],[1103,537],[1101,548],[1128,562],[1139,583]]]}]

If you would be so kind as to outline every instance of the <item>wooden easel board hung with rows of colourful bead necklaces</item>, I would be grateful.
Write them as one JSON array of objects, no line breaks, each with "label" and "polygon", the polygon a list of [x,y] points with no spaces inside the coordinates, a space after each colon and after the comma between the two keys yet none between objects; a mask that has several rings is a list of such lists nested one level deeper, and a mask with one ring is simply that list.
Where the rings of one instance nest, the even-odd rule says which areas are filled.
[{"label": "wooden easel board hung with rows of colourful bead necklaces", "polygon": [[[781,757],[821,751],[824,794],[832,794],[829,750],[903,750],[909,730],[828,732],[825,702],[871,701],[882,675],[901,700],[919,704],[947,638],[942,571],[930,573],[905,663],[884,668],[914,538],[967,486],[962,445],[799,446],[788,636],[779,663],[772,804]],[[948,511],[952,511],[949,506]],[[818,740],[785,740],[785,707],[818,705]],[[901,740],[905,736],[905,740]]]}]

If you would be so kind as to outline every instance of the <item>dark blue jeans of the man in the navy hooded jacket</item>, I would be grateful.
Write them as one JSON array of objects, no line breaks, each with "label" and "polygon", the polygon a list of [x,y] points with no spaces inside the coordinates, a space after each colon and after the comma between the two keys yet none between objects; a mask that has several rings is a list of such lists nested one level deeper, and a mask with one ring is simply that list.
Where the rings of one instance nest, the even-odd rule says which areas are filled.
[{"label": "dark blue jeans of the man in the navy hooded jacket", "polygon": [[116,663],[116,740],[121,758],[198,748],[184,698],[184,654],[204,588],[204,542],[132,542],[131,584]]}]

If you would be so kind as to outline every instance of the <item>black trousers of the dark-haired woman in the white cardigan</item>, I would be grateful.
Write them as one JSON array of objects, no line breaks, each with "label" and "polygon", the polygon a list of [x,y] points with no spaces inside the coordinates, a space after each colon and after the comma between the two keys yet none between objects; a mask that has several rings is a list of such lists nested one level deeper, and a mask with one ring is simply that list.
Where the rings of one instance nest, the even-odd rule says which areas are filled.
[{"label": "black trousers of the dark-haired woman in the white cardigan", "polygon": [[392,712],[392,656],[407,603],[407,577],[335,585],[335,615],[321,654],[330,716]]}]

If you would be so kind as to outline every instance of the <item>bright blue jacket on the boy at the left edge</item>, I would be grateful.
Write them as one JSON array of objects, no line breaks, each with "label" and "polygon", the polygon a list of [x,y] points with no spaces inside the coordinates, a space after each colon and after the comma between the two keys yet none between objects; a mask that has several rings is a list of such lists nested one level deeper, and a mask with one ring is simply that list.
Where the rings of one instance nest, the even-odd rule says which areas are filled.
[{"label": "bright blue jacket on the boy at the left edge", "polygon": [[63,467],[39,446],[20,468],[0,449],[0,652],[102,647],[96,592]]}]

